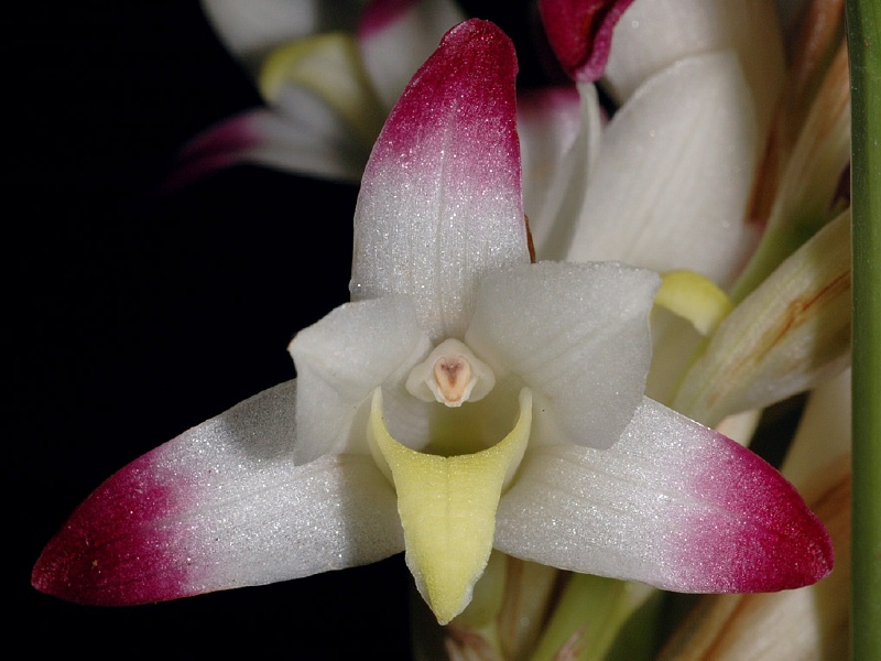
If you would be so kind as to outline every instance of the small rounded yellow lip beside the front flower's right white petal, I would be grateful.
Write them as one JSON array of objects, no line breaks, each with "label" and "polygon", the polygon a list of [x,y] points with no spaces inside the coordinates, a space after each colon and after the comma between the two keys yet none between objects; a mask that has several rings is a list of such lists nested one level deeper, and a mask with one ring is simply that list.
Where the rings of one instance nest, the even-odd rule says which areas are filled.
[{"label": "small rounded yellow lip beside the front flower's right white petal", "polygon": [[701,335],[711,333],[733,308],[715,282],[694,271],[664,273],[654,303],[690,322]]}]

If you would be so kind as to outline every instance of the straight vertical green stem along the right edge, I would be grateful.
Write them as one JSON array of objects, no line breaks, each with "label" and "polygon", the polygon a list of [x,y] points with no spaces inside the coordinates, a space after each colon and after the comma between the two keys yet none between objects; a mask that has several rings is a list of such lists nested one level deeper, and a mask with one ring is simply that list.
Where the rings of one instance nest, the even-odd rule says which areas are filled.
[{"label": "straight vertical green stem along the right edge", "polygon": [[881,4],[847,0],[852,100],[853,659],[881,659]]}]

